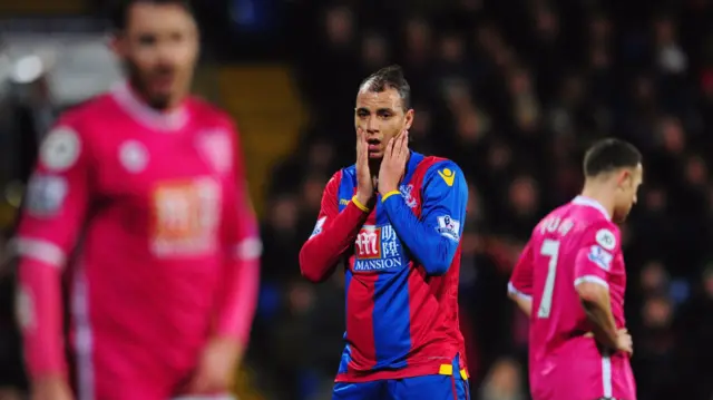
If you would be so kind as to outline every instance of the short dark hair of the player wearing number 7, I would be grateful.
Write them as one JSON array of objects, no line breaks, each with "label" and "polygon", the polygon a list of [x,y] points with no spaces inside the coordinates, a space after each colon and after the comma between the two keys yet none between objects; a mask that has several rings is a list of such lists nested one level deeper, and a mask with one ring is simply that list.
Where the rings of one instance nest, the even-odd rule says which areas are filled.
[{"label": "short dark hair of the player wearing number 7", "polygon": [[602,139],[587,149],[584,175],[594,177],[619,168],[634,168],[641,162],[641,152],[631,143],[615,138]]}]

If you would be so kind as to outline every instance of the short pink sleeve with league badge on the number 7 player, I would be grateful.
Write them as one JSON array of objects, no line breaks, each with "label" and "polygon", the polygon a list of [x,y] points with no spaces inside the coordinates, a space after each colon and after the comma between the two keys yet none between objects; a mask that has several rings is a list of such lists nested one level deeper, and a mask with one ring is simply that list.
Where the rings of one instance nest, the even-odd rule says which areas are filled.
[{"label": "short pink sleeve with league badge on the number 7 player", "polygon": [[582,282],[609,286],[612,262],[619,251],[618,230],[611,223],[597,223],[584,232],[575,261],[575,286]]}]

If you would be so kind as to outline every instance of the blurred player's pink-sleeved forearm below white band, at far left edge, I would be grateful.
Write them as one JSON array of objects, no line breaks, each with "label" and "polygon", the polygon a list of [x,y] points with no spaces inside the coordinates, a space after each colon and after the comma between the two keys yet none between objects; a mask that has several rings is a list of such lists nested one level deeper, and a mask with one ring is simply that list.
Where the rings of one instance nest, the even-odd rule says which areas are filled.
[{"label": "blurred player's pink-sleeved forearm below white band, at far left edge", "polygon": [[67,377],[61,301],[60,269],[23,258],[19,267],[17,311],[25,360],[32,379]]}]

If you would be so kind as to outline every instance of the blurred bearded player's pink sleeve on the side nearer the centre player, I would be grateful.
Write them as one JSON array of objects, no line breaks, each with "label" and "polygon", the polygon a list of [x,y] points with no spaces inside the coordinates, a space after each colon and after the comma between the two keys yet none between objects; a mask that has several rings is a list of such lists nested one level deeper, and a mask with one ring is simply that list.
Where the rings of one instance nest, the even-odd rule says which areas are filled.
[{"label": "blurred bearded player's pink sleeve on the side nearer the centre player", "polygon": [[224,244],[226,269],[218,303],[216,331],[243,345],[250,339],[260,289],[260,256],[262,243],[257,221],[247,194],[238,134],[234,137],[234,176],[226,185]]}]

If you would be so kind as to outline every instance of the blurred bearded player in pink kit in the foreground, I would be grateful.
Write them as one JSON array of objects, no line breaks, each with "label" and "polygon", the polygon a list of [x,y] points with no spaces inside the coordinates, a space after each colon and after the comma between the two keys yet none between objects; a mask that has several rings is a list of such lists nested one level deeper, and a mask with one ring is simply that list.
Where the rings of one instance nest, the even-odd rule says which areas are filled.
[{"label": "blurred bearded player in pink kit in the foreground", "polygon": [[128,82],[65,114],[42,144],[16,242],[33,400],[217,396],[243,354],[260,241],[235,128],[187,96],[189,11],[126,2],[114,48]]}]

